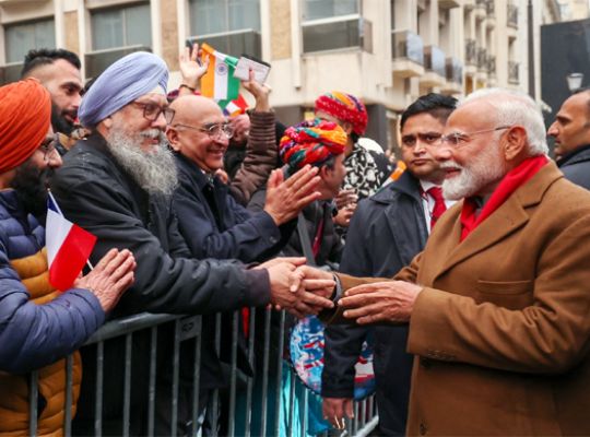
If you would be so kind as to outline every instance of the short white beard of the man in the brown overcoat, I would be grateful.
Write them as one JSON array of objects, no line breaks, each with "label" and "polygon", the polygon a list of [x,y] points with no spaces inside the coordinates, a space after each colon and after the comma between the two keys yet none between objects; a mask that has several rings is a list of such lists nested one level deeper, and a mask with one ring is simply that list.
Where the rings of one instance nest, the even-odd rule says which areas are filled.
[{"label": "short white beard of the man in the brown overcoat", "polygon": [[476,154],[469,166],[461,166],[452,161],[440,164],[440,168],[456,168],[460,173],[442,182],[442,194],[449,200],[460,200],[477,194],[479,191],[500,180],[506,170],[502,165],[500,151],[495,144]]}]

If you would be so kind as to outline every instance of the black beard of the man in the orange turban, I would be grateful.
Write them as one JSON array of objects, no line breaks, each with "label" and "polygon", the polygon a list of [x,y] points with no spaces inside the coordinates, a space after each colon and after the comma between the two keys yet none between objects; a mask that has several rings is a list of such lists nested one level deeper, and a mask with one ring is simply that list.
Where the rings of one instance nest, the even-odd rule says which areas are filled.
[{"label": "black beard of the man in the orange turban", "polygon": [[50,167],[40,169],[27,161],[16,169],[10,182],[24,210],[38,220],[47,213],[47,181],[52,173]]}]

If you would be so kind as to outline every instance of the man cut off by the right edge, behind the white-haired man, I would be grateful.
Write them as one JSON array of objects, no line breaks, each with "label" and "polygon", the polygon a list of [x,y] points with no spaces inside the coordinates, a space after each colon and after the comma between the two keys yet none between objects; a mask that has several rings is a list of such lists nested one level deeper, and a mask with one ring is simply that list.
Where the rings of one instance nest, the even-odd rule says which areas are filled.
[{"label": "man cut off by the right edge, behind the white-haired man", "polygon": [[566,179],[590,189],[590,88],[564,102],[547,134],[555,140],[555,158]]}]

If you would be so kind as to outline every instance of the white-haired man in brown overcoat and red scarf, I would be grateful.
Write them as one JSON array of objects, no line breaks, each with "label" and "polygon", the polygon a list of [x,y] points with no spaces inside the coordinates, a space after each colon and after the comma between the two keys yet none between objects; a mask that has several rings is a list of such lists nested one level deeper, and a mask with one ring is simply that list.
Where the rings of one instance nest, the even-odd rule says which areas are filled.
[{"label": "white-haired man in brown overcoat and red scarf", "polygon": [[473,93],[434,153],[465,200],[393,281],[339,275],[328,321],[409,323],[408,435],[590,435],[590,193],[546,153],[529,96]]}]

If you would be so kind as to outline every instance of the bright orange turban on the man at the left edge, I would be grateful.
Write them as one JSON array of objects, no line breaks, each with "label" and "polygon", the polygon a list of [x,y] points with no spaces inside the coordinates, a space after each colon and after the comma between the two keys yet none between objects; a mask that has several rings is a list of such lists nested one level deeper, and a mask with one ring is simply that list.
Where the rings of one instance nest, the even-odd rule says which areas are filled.
[{"label": "bright orange turban on the man at the left edge", "polygon": [[33,155],[51,122],[51,97],[36,79],[0,87],[0,173]]}]

